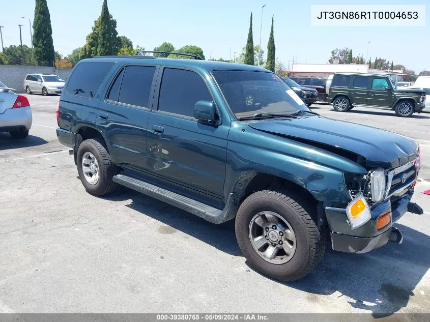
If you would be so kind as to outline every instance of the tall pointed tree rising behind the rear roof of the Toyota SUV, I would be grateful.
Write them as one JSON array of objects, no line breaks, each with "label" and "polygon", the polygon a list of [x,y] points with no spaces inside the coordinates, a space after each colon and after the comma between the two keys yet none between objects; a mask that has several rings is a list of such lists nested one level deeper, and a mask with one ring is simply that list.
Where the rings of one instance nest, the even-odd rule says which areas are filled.
[{"label": "tall pointed tree rising behind the rear roof of the Toyota SUV", "polygon": [[104,0],[102,13],[94,21],[92,32],[87,36],[87,43],[80,50],[79,58],[92,58],[106,54],[116,55],[120,50],[120,37],[117,36],[117,20],[109,14],[107,2]]}]

